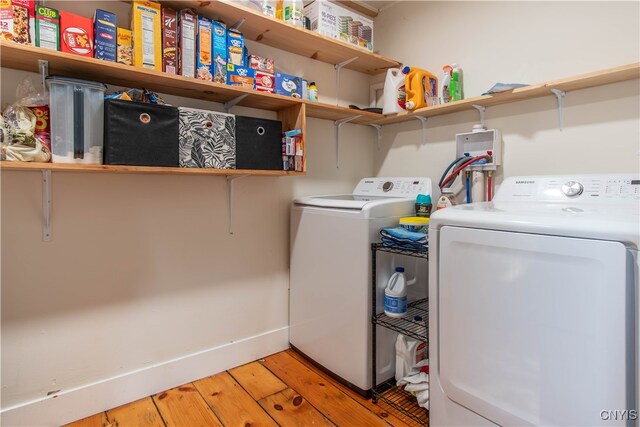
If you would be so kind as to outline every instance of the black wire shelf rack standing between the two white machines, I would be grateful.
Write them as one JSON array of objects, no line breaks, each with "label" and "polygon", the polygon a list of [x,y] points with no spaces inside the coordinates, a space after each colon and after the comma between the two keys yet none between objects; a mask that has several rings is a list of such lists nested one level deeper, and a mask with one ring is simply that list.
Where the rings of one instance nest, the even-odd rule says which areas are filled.
[{"label": "black wire shelf rack standing between the two white machines", "polygon": [[371,245],[371,281],[372,281],[372,306],[371,306],[371,343],[372,343],[372,361],[371,361],[371,392],[372,402],[377,403],[378,400],[385,402],[399,413],[411,418],[419,424],[428,425],[429,411],[418,406],[416,398],[411,393],[404,391],[401,387],[395,386],[393,379],[383,384],[376,381],[376,326],[380,325],[393,331],[404,334],[419,341],[427,341],[429,337],[429,299],[423,298],[414,301],[407,306],[407,314],[403,317],[389,317],[382,313],[378,313],[376,304],[376,266],[377,253],[389,252],[398,255],[406,255],[418,258],[429,258],[429,253],[412,251],[401,248],[384,246],[380,243]]}]

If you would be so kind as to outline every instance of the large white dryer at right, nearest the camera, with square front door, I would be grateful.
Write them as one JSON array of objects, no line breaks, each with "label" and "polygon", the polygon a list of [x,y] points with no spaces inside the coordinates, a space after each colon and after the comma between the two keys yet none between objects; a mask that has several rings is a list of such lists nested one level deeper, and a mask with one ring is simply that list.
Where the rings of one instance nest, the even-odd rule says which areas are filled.
[{"label": "large white dryer at right, nearest the camera, with square front door", "polygon": [[638,425],[637,175],[509,178],[429,227],[430,425]]}]

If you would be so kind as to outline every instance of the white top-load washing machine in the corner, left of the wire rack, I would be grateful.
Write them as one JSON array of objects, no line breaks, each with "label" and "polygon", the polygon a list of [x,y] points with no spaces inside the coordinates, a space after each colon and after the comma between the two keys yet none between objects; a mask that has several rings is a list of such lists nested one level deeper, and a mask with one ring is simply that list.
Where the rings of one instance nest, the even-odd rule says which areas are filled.
[{"label": "white top-load washing machine in the corner, left of the wire rack", "polygon": [[[371,243],[379,241],[380,229],[415,215],[416,196],[431,191],[429,178],[365,178],[352,194],[294,201],[289,342],[361,394],[371,389]],[[392,264],[378,257],[378,286],[386,285]],[[410,275],[421,268],[414,267]],[[425,279],[426,268],[425,262]],[[413,288],[409,299],[424,298],[426,287]],[[382,381],[395,373],[397,334],[377,329],[377,379]]]}]

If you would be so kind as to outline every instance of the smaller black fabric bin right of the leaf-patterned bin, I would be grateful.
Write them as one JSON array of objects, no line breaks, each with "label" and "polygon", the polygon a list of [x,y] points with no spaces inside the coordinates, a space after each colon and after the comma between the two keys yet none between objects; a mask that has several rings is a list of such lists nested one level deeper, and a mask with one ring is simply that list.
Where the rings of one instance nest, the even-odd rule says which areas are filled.
[{"label": "smaller black fabric bin right of the leaf-patterned bin", "polygon": [[282,122],[236,116],[236,169],[282,170]]}]

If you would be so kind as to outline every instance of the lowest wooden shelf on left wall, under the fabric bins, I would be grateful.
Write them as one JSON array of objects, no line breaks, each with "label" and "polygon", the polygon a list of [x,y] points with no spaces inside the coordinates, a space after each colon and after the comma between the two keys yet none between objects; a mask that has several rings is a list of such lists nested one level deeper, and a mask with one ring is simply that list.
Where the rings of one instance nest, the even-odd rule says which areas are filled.
[{"label": "lowest wooden shelf on left wall, under the fabric bins", "polygon": [[277,170],[249,170],[249,169],[195,169],[168,168],[152,166],[112,166],[112,165],[81,165],[63,163],[27,163],[0,162],[0,171],[38,171],[50,170],[58,172],[102,172],[127,174],[175,174],[175,175],[260,175],[260,176],[292,176],[304,175],[304,172]]}]

